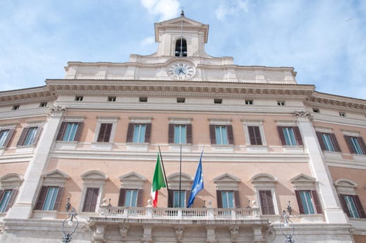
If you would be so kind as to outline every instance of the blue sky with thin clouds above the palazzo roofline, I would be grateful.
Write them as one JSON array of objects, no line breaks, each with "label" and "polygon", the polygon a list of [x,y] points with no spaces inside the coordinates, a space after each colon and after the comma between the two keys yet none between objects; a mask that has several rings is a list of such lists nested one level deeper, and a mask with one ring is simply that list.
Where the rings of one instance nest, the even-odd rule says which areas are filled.
[{"label": "blue sky with thin clouds above the palazzo roofline", "polygon": [[0,90],[64,78],[68,61],[156,51],[153,23],[209,24],[206,52],[236,65],[294,67],[317,91],[366,99],[366,1],[0,0]]}]

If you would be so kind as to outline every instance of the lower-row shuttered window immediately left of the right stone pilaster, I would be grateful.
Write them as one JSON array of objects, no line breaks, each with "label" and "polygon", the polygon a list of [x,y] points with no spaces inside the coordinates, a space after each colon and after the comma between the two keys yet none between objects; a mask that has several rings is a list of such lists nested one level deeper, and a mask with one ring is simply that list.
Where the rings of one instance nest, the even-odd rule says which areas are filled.
[{"label": "lower-row shuttered window immediately left of the right stone pilaster", "polygon": [[317,191],[296,190],[296,199],[299,205],[299,212],[303,215],[313,215],[322,213],[322,206],[319,204]]}]

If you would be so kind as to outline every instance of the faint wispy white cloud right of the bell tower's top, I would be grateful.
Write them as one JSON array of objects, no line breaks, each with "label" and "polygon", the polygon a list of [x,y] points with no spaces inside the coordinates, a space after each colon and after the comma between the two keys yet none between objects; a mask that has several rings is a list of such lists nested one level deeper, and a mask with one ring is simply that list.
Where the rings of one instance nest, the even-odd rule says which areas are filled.
[{"label": "faint wispy white cloud right of the bell tower's top", "polygon": [[247,1],[231,0],[225,1],[216,10],[215,14],[217,19],[224,20],[228,15],[239,15],[242,12],[249,12]]}]

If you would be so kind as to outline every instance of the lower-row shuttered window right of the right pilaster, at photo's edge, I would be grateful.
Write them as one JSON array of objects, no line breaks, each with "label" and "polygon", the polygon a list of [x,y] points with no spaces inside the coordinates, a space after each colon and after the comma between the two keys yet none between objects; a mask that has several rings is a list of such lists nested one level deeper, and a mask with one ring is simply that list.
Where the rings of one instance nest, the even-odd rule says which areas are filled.
[{"label": "lower-row shuttered window right of the right pilaster, at photo's edge", "polygon": [[344,212],[351,218],[365,218],[365,211],[357,195],[340,194],[340,203]]}]

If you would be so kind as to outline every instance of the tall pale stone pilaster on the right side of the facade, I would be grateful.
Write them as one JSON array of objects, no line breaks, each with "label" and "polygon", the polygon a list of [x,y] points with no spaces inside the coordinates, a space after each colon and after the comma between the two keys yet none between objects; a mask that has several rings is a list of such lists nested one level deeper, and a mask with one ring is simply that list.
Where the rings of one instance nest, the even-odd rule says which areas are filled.
[{"label": "tall pale stone pilaster on the right side of the facade", "polygon": [[322,149],[317,141],[317,135],[310,121],[309,112],[294,112],[297,124],[303,139],[303,144],[310,157],[309,165],[312,176],[317,178],[317,190],[322,201],[324,215],[327,223],[347,224],[344,212],[337,204],[337,192],[333,187],[331,174],[323,160]]}]

